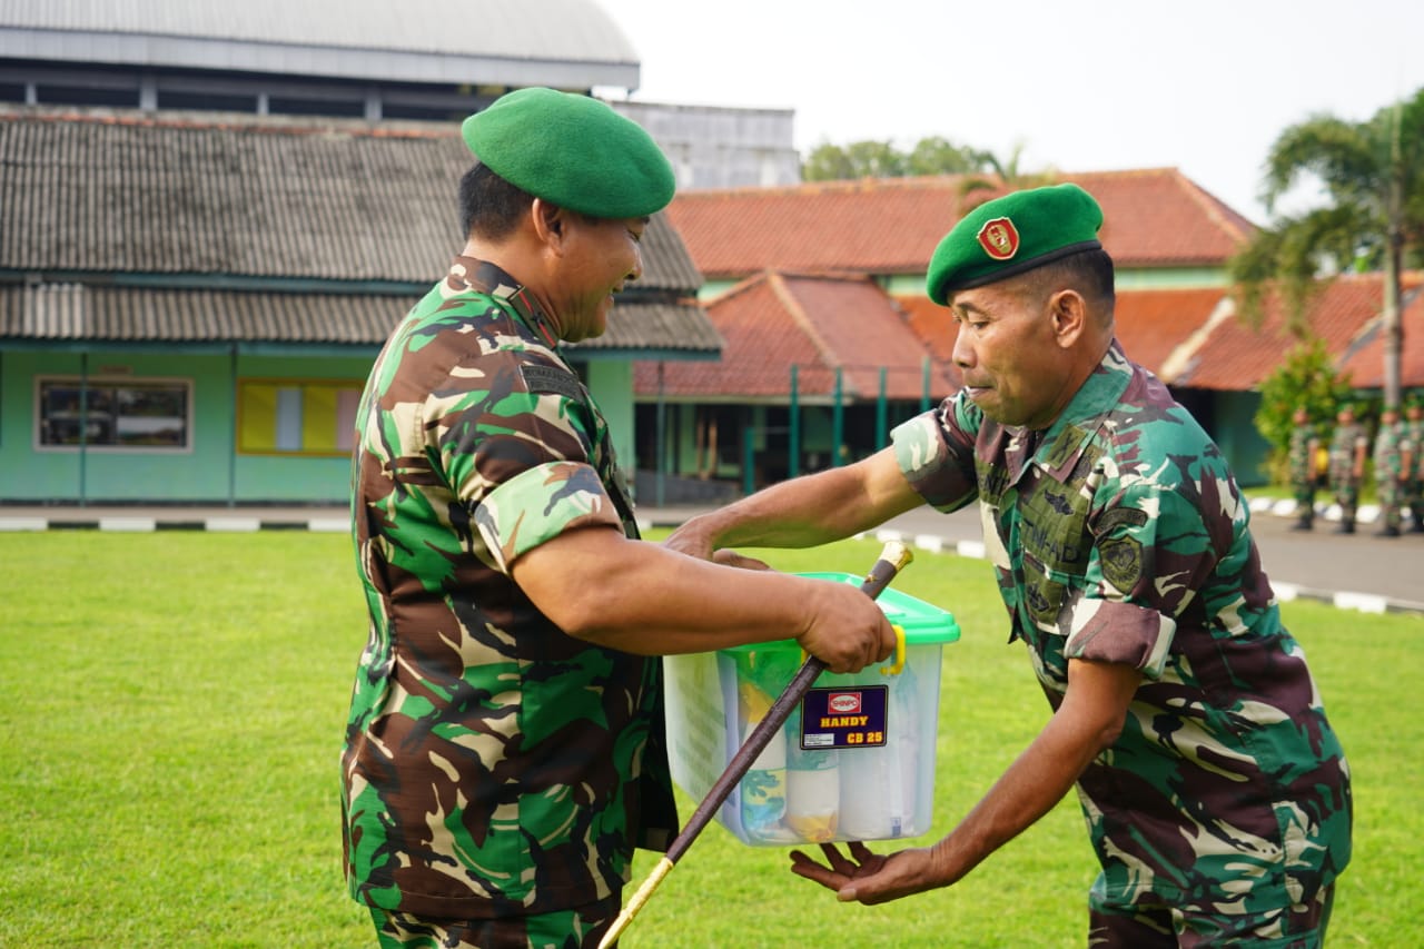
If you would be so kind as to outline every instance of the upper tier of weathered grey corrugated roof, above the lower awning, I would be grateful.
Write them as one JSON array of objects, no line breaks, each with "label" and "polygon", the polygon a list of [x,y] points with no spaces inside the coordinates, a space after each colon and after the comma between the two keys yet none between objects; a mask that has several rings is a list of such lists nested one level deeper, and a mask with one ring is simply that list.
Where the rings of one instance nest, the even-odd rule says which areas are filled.
[{"label": "upper tier of weathered grey corrugated roof, above the lower awning", "polygon": [[[429,285],[473,162],[429,123],[0,105],[0,271]],[[664,214],[639,292],[702,276]]]}]

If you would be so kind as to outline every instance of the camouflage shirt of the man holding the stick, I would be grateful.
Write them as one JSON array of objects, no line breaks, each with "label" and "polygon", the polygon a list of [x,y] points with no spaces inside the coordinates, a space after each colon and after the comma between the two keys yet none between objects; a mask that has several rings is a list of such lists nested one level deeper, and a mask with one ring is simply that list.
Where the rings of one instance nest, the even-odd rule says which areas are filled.
[{"label": "camouflage shirt of the man holding the stick", "polygon": [[537,304],[457,258],[386,342],[357,416],[356,899],[544,913],[617,893],[635,844],[666,848],[661,663],[564,634],[508,573],[590,524],[637,536],[607,425]]}]

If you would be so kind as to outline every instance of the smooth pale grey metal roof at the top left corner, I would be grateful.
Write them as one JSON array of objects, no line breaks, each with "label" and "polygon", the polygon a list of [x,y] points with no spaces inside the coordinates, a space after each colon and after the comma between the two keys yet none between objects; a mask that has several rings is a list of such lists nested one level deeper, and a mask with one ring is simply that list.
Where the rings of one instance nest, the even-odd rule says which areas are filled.
[{"label": "smooth pale grey metal roof at the top left corner", "polygon": [[490,85],[638,87],[592,0],[6,0],[0,58]]}]

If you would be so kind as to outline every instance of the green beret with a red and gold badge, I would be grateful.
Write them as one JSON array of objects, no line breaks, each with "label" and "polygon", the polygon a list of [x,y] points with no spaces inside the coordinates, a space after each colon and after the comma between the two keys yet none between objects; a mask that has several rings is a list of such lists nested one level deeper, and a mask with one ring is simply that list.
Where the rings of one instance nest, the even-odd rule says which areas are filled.
[{"label": "green beret with a red and gold badge", "polygon": [[1015,191],[960,218],[930,258],[926,289],[950,294],[1017,276],[1058,258],[1101,248],[1102,208],[1075,184]]}]

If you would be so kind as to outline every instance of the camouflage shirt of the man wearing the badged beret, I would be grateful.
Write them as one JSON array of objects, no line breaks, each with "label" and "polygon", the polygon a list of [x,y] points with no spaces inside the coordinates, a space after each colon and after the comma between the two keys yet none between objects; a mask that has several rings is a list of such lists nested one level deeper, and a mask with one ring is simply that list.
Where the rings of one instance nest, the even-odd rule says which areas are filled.
[{"label": "camouflage shirt of the man wearing the badged beret", "polygon": [[1094,903],[1307,899],[1350,859],[1350,777],[1220,452],[1118,343],[1037,435],[961,393],[893,440],[930,504],[980,502],[1010,638],[1054,708],[1069,658],[1143,675],[1078,779]]}]

